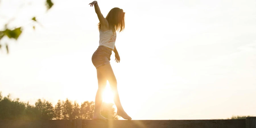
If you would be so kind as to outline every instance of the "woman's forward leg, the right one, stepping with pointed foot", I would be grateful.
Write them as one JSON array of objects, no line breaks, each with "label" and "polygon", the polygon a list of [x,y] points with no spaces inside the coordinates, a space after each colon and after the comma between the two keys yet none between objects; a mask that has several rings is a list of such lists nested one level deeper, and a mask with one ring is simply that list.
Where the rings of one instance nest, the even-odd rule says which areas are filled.
[{"label": "woman's forward leg, the right one, stepping with pointed foot", "polygon": [[123,107],[121,105],[120,99],[119,99],[119,94],[117,91],[117,81],[115,78],[115,75],[113,73],[112,67],[110,64],[106,64],[103,66],[98,67],[97,71],[100,71],[105,78],[108,80],[110,84],[110,88],[112,89],[114,93],[114,102],[117,107],[117,115],[123,117],[123,119],[128,119],[131,120],[131,117],[127,115],[127,113],[123,110]]}]

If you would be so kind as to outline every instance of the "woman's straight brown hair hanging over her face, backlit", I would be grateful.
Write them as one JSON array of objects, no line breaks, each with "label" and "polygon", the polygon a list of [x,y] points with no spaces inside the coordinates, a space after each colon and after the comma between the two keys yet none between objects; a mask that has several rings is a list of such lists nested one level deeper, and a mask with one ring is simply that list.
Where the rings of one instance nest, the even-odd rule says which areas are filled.
[{"label": "woman's straight brown hair hanging over her face, backlit", "polygon": [[[120,8],[113,8],[109,11],[108,15],[106,16],[106,19],[108,20],[109,28],[112,29],[113,32],[115,31],[123,31],[125,28],[125,13],[123,12],[123,9]],[[98,29],[100,30],[101,24],[98,23]]]}]

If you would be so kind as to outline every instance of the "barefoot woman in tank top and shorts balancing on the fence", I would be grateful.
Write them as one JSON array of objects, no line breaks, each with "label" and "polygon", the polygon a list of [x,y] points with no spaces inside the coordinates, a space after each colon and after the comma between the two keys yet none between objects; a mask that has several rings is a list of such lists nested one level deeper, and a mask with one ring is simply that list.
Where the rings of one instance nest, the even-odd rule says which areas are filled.
[{"label": "barefoot woman in tank top and shorts balancing on the fence", "polygon": [[95,110],[93,119],[104,120],[108,119],[100,115],[100,108],[102,104],[102,94],[106,87],[107,80],[110,83],[110,87],[114,93],[114,102],[117,107],[117,115],[124,119],[131,120],[131,117],[123,110],[121,105],[119,94],[117,91],[117,81],[110,65],[110,55],[112,51],[115,53],[115,62],[120,62],[120,57],[115,48],[116,31],[123,31],[125,28],[123,9],[113,8],[110,10],[106,18],[100,12],[97,1],[89,3],[90,7],[94,6],[95,12],[100,22],[98,23],[98,29],[100,32],[100,41],[98,49],[92,55],[92,63],[97,70],[98,78],[98,91],[95,97]]}]

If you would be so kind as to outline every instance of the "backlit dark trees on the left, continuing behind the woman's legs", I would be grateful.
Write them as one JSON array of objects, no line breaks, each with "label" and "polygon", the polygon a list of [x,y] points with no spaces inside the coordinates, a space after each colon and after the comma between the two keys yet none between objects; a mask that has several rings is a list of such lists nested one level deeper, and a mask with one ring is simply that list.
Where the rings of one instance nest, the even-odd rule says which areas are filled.
[{"label": "backlit dark trees on the left, continuing behind the woman's legs", "polygon": [[[117,120],[119,116],[115,112],[112,103],[102,103],[101,114],[108,119]],[[92,119],[94,114],[94,102],[85,101],[79,105],[58,100],[53,107],[52,103],[38,99],[34,105],[22,102],[19,98],[11,99],[10,94],[3,97],[0,92],[0,119],[1,120],[49,120],[49,119]]]}]

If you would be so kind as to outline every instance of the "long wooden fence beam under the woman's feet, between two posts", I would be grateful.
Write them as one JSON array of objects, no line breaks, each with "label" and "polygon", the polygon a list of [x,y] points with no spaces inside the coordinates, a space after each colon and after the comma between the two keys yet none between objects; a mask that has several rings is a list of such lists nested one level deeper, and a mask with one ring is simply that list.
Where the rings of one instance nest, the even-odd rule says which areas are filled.
[{"label": "long wooden fence beam under the woman's feet, between two posts", "polygon": [[245,119],[219,120],[83,120],[82,128],[246,128]]}]

